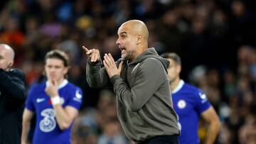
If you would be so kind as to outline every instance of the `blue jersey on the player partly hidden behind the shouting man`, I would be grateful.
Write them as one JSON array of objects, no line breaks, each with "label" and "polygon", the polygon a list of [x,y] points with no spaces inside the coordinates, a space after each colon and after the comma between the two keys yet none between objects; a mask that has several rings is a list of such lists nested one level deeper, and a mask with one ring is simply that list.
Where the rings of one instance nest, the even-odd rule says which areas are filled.
[{"label": "blue jersey on the player partly hidden behind the shouting man", "polygon": [[200,89],[186,84],[181,80],[172,92],[174,110],[178,114],[178,125],[181,144],[198,144],[198,123],[201,113],[210,108],[206,94]]}]

